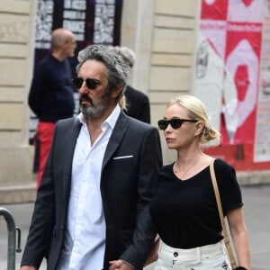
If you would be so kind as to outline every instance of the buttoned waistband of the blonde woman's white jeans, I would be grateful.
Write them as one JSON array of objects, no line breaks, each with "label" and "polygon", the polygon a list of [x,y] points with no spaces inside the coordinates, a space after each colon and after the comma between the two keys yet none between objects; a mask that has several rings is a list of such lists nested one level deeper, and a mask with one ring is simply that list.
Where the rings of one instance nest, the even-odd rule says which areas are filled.
[{"label": "buttoned waistband of the blonde woman's white jeans", "polygon": [[222,241],[202,247],[194,247],[188,249],[169,247],[164,242],[160,241],[158,256],[165,257],[168,260],[186,261],[186,260],[201,260],[206,257],[214,257],[224,254],[224,246]]}]

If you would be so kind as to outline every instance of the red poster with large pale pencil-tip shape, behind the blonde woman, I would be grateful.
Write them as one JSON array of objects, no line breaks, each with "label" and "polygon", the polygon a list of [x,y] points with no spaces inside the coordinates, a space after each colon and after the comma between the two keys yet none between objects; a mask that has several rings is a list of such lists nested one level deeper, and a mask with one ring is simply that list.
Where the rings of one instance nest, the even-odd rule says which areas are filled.
[{"label": "red poster with large pale pencil-tip shape, behind the blonde woman", "polygon": [[[225,64],[238,96],[238,122],[230,140],[233,144],[253,143],[255,138],[261,33],[261,23],[227,23]],[[222,143],[229,143],[224,130],[222,134]]]}]

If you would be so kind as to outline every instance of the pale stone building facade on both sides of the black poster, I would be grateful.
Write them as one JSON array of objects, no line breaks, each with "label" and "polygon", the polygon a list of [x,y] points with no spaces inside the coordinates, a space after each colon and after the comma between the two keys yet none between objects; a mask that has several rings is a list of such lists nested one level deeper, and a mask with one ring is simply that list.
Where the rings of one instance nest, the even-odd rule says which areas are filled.
[{"label": "pale stone building facade on both sides of the black poster", "polygon": [[[27,104],[35,2],[0,2],[0,203],[35,199]],[[196,0],[123,1],[121,45],[136,53],[130,84],[148,94],[153,125],[163,117],[172,96],[190,93],[200,8]],[[167,151],[160,135],[164,163],[168,163],[175,153]]]}]

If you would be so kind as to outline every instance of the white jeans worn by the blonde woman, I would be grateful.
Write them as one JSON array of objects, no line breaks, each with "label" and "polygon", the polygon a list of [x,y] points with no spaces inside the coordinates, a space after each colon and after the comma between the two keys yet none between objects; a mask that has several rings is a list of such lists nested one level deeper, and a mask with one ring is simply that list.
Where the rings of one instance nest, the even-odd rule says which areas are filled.
[{"label": "white jeans worn by the blonde woman", "polygon": [[223,242],[181,249],[160,241],[154,270],[232,270]]}]

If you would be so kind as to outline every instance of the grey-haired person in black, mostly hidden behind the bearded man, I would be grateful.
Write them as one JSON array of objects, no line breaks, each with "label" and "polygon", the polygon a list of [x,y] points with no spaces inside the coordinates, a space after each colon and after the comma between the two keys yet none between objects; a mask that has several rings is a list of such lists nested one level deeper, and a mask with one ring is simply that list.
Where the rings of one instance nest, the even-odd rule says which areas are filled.
[{"label": "grey-haired person in black, mostly hidden behind the bearded man", "polygon": [[[135,53],[132,49],[125,46],[115,46],[112,49],[121,55],[130,66],[130,69],[134,66]],[[126,85],[125,97],[127,104],[124,112],[139,121],[150,123],[150,103],[148,96],[130,85]]]}]

